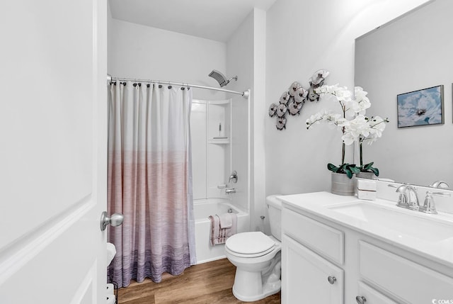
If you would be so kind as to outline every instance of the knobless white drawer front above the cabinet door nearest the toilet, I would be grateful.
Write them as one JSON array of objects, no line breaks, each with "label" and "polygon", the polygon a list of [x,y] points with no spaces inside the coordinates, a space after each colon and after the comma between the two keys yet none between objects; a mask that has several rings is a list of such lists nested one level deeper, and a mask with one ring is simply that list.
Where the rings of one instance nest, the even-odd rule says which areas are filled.
[{"label": "knobless white drawer front above the cabinet door nearest the toilet", "polygon": [[301,244],[343,265],[344,234],[340,230],[283,208],[282,230]]}]

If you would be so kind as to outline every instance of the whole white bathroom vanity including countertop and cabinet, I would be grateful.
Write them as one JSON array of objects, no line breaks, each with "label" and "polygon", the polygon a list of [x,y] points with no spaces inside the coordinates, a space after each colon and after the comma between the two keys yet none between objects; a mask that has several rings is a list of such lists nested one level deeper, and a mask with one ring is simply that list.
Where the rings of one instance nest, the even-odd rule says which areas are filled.
[{"label": "whole white bathroom vanity including countertop and cabinet", "polygon": [[280,198],[282,303],[453,303],[453,214],[327,192]]}]

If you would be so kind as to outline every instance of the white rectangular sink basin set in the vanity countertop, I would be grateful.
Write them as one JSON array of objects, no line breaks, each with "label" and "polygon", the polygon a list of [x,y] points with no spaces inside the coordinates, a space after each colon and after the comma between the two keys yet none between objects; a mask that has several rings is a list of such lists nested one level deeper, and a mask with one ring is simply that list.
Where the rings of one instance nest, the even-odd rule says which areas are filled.
[{"label": "white rectangular sink basin set in the vanity countertop", "polygon": [[330,206],[330,210],[350,218],[396,232],[399,238],[413,237],[425,242],[442,242],[453,238],[453,223],[418,211],[380,206],[377,203],[356,201]]}]

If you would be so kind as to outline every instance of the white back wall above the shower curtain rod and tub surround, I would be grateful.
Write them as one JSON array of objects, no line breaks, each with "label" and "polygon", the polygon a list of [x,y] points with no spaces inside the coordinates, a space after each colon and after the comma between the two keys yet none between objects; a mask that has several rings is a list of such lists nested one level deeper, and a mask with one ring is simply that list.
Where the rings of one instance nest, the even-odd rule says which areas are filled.
[{"label": "white back wall above the shower curtain rod and tub surround", "polygon": [[[208,74],[212,69],[226,70],[225,43],[111,17],[108,26],[108,73],[113,77],[219,87]],[[222,92],[193,90],[193,98],[226,98]]]}]

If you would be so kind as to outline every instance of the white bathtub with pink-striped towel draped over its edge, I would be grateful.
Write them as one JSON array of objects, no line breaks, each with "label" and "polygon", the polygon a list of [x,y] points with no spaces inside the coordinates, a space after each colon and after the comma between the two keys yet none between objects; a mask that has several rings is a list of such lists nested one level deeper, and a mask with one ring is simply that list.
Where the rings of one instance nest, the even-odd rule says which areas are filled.
[{"label": "white bathtub with pink-striped towel draped over its edge", "polygon": [[207,261],[223,259],[225,257],[225,245],[211,246],[210,215],[227,213],[231,209],[238,217],[237,232],[246,232],[249,227],[249,215],[246,211],[231,204],[229,200],[222,198],[209,198],[207,200],[195,200],[193,202],[195,215],[195,250],[197,252],[197,264]]}]

